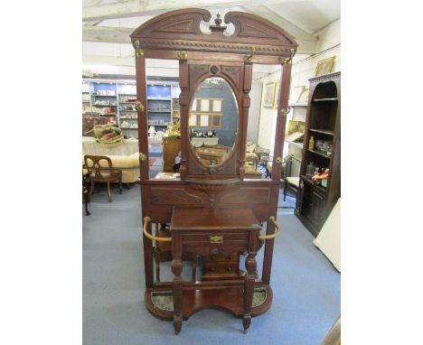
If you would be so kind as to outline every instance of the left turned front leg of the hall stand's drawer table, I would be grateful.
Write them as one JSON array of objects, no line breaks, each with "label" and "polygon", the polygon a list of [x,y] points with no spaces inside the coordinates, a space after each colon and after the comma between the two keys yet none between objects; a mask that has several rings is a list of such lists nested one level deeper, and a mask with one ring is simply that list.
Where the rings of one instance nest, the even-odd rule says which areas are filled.
[{"label": "left turned front leg of the hall stand's drawer table", "polygon": [[172,237],[172,273],[174,274],[174,333],[179,334],[182,329],[182,246],[178,236]]}]

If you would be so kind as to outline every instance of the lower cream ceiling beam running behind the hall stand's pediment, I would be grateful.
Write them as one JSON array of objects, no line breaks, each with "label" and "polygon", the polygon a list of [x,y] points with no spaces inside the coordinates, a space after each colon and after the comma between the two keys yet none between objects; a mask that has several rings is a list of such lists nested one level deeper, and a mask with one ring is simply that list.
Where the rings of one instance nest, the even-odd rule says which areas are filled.
[{"label": "lower cream ceiling beam running behind the hall stand's pediment", "polygon": [[[132,44],[129,34],[133,33],[132,28],[116,28],[107,26],[82,26],[83,42],[107,42]],[[315,53],[315,42],[296,39],[298,43],[297,53]]]}]

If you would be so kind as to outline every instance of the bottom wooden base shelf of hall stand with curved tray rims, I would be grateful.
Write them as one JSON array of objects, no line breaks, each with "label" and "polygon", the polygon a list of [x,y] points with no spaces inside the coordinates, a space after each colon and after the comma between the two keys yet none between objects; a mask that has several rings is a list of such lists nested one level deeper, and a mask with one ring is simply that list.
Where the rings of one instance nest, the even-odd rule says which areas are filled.
[{"label": "bottom wooden base shelf of hall stand with curved tray rims", "polygon": [[[266,290],[266,300],[256,307],[252,307],[251,316],[255,317],[265,313],[270,309],[273,300],[273,292],[270,286],[258,286],[256,289]],[[148,312],[155,317],[165,320],[174,321],[174,311],[165,310],[157,307],[152,299],[152,294],[172,294],[172,290],[164,287],[155,287],[146,289],[145,303]],[[243,310],[244,293],[242,287],[226,287],[221,289],[183,289],[183,320],[188,318],[195,312],[203,309],[218,309],[225,312],[231,312],[235,317],[241,318],[244,314]]]}]

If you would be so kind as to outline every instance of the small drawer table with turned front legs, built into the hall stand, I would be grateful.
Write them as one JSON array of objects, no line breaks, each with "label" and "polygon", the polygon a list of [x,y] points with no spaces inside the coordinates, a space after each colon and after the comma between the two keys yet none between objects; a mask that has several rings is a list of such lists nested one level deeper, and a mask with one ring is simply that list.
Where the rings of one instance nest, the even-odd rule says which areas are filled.
[{"label": "small drawer table with turned front legs, built into the hall stand", "polygon": [[[232,253],[244,251],[248,253],[245,260],[247,272],[243,284],[242,325],[244,332],[249,329],[260,229],[261,224],[249,209],[174,208],[171,234],[176,334],[182,329],[183,310],[187,307],[183,295],[188,286],[183,284],[181,276],[182,256],[187,252],[201,256],[230,256]],[[230,310],[234,307],[233,301],[225,294],[225,287],[230,287],[230,281],[213,281],[207,286],[207,297],[202,294],[198,300],[187,299],[186,302],[196,305],[197,310],[206,307]]]}]

